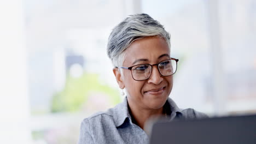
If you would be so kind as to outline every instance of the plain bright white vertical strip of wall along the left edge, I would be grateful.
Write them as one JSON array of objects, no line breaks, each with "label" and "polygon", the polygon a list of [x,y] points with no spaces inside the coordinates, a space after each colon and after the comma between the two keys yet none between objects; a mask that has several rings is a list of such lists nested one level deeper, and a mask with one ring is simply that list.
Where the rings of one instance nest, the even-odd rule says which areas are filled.
[{"label": "plain bright white vertical strip of wall along the left edge", "polygon": [[22,1],[0,1],[0,143],[31,143]]}]

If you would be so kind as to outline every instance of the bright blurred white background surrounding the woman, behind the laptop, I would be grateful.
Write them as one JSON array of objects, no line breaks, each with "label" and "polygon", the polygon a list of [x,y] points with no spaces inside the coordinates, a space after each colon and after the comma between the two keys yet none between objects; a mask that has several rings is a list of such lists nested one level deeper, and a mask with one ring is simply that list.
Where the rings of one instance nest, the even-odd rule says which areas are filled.
[{"label": "bright blurred white background surrounding the woman, behind the laptop", "polygon": [[76,143],[83,118],[122,101],[106,45],[136,13],[171,33],[179,107],[256,113],[254,0],[0,1],[0,143]]}]

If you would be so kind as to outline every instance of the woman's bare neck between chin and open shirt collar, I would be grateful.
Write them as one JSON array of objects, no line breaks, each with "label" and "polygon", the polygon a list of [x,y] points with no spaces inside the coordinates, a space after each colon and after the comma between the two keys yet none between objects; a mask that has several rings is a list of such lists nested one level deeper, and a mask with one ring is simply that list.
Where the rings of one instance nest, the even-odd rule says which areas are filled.
[{"label": "woman's bare neck between chin and open shirt collar", "polygon": [[143,130],[145,128],[146,121],[150,117],[162,116],[163,110],[164,110],[163,107],[161,107],[160,109],[143,109],[136,105],[130,105],[129,103],[128,103],[128,105],[129,105],[129,112],[132,117],[132,122],[137,124]]}]

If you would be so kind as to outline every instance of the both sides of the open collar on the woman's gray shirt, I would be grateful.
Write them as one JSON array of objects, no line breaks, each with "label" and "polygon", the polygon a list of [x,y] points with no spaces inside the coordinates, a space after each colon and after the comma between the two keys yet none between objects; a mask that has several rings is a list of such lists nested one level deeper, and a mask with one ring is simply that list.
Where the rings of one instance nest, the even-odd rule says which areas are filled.
[{"label": "both sides of the open collar on the woman's gray shirt", "polygon": [[[171,119],[176,117],[177,113],[182,113],[179,107],[171,98],[168,98],[166,100],[166,103],[168,103],[167,109],[170,109],[171,111]],[[129,118],[131,122],[131,115],[128,109],[127,97],[124,98],[124,101],[122,103],[118,104],[113,108],[113,118],[115,127],[119,127],[120,125],[122,125],[125,122],[126,118]]]}]

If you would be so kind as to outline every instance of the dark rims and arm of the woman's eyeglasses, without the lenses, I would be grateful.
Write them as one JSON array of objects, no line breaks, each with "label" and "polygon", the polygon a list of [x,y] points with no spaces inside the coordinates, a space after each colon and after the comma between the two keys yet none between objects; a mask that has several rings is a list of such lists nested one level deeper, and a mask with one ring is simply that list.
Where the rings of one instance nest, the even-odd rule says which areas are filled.
[{"label": "dark rims and arm of the woman's eyeglasses, without the lenses", "polygon": [[[176,71],[177,71],[179,59],[170,58],[170,59],[166,59],[165,61],[169,61],[169,60],[174,60],[174,61],[176,61],[176,70],[175,70],[175,72],[173,73],[173,74],[175,74]],[[162,61],[162,62],[165,62],[165,61]],[[159,65],[160,63],[162,63],[162,62],[159,62],[159,63],[156,63],[156,64],[145,64],[145,65],[150,65],[150,67],[151,67],[151,71],[150,71],[149,77],[150,77],[151,74],[152,74],[153,66],[156,65],[156,66],[158,67],[158,65]],[[132,75],[132,68],[133,68],[133,67],[136,67],[136,66],[138,66],[138,65],[143,65],[143,64],[136,64],[136,65],[133,65],[133,66],[131,66],[131,67],[121,67],[121,66],[120,66],[120,67],[115,67],[115,68],[129,69],[129,70],[131,71],[131,75]],[[162,75],[161,72],[160,72],[160,70],[159,70],[159,67],[158,67],[158,71],[159,71],[159,73],[160,73],[161,76],[171,76],[171,75],[173,75],[173,74],[171,74],[171,75]],[[145,79],[145,80],[148,80],[149,77],[148,77],[147,79]],[[132,79],[135,80],[134,77],[133,77],[133,75],[132,75]],[[136,81],[144,81],[144,80],[136,80]]]}]

